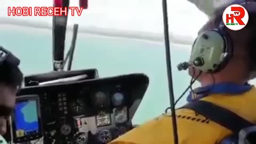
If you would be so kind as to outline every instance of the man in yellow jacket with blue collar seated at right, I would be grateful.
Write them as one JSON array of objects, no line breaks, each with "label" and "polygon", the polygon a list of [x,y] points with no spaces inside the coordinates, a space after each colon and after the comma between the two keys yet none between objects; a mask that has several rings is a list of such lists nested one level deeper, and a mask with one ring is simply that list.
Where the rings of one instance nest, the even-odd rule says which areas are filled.
[{"label": "man in yellow jacket with blue collar seated at right", "polygon": [[[222,13],[227,6],[229,5],[218,9],[214,16],[199,30],[198,35],[207,30],[217,29],[222,22]],[[256,4],[247,3],[244,7],[249,12],[249,22],[245,28],[234,31],[227,27],[222,27],[222,31],[229,35],[233,49],[230,52],[231,54],[229,53],[231,57],[227,61],[226,66],[217,73],[201,73],[197,80],[202,86],[197,91],[207,90],[207,94],[202,94],[200,97],[192,97],[193,94],[191,93],[197,92],[192,91],[188,95],[187,100],[189,103],[199,100],[211,102],[233,111],[251,123],[256,123],[256,88],[245,84],[255,77],[253,71],[256,69]],[[197,67],[190,67],[189,75],[197,75],[199,71]],[[209,87],[212,89],[209,89]],[[226,127],[210,121],[203,115],[195,113],[194,110],[187,108],[177,109],[176,115],[180,144],[221,143],[223,139],[232,134]],[[221,118],[222,116],[219,115],[219,117]],[[230,123],[232,121],[233,119],[230,119]],[[167,113],[141,124],[110,143],[173,144],[174,136],[171,114]]]}]

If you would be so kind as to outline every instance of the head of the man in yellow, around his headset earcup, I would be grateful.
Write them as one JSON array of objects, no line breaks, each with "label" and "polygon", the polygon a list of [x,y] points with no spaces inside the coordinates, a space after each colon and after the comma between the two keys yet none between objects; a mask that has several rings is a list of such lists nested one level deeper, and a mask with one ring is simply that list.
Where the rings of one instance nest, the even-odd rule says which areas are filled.
[{"label": "head of the man in yellow, around his headset earcup", "polygon": [[[218,9],[214,17],[210,18],[199,30],[198,35],[204,31],[218,28],[222,21],[222,13],[227,6],[229,5]],[[227,27],[222,29],[233,43],[232,57],[228,60],[227,65],[217,73],[202,73],[198,77],[198,81],[201,82],[202,86],[223,82],[244,84],[255,77],[252,74],[256,70],[256,3],[249,3],[243,6],[249,12],[249,21],[245,28],[237,31],[229,30]],[[189,67],[190,76],[197,76],[199,71],[194,67]]]}]

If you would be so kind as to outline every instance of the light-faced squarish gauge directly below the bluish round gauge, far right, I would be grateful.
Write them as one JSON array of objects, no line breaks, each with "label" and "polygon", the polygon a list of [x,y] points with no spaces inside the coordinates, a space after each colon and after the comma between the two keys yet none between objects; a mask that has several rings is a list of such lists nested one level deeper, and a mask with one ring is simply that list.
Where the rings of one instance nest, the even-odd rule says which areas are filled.
[{"label": "light-faced squarish gauge directly below the bluish round gauge, far right", "polygon": [[127,108],[123,107],[121,109],[117,108],[114,110],[114,116],[116,123],[124,123],[127,121]]}]

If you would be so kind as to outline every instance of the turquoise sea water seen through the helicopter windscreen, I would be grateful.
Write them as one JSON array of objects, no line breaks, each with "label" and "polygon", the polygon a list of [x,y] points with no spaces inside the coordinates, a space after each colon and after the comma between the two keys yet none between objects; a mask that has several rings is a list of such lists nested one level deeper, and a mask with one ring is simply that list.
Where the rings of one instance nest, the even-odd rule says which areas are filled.
[{"label": "turquoise sea water seen through the helicopter windscreen", "polygon": [[[21,59],[21,69],[28,74],[52,70],[52,36],[34,28],[11,26],[0,30],[0,45]],[[43,30],[47,31],[47,30]],[[70,37],[70,36],[68,36]],[[69,49],[71,39],[66,44]],[[175,97],[189,84],[187,71],[178,71],[179,62],[188,59],[188,46],[172,45],[172,74]],[[100,77],[145,73],[150,80],[133,122],[140,124],[162,113],[169,106],[169,91],[164,43],[78,34],[73,69],[97,68]],[[179,105],[186,102],[183,98]]]}]

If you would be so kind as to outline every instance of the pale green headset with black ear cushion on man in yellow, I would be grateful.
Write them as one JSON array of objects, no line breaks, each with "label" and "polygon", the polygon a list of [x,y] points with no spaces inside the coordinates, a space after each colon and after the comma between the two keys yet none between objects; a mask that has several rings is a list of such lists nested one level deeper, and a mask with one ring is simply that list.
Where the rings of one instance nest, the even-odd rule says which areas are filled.
[{"label": "pale green headset with black ear cushion on man in yellow", "polygon": [[[240,2],[240,5],[255,2]],[[224,30],[221,20],[219,26],[204,31],[195,39],[187,65],[194,66],[205,73],[217,73],[225,68],[233,56],[233,41]]]}]

